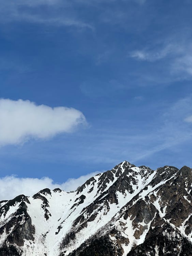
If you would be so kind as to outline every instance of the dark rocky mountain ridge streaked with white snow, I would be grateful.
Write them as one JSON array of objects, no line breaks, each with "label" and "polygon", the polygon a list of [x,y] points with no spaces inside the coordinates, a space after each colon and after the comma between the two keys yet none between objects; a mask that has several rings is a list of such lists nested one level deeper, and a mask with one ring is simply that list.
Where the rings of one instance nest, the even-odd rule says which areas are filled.
[{"label": "dark rocky mountain ridge streaked with white snow", "polygon": [[0,256],[192,256],[192,169],[124,161],[75,192],[0,202]]}]

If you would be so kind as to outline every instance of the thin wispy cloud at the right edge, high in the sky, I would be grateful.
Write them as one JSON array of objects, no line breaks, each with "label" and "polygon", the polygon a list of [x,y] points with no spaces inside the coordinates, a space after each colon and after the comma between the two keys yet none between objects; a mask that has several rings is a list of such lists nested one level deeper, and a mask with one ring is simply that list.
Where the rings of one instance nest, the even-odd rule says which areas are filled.
[{"label": "thin wispy cloud at the right edge, high in the sky", "polygon": [[[150,72],[154,80],[159,80],[156,70],[161,69],[161,83],[174,82],[180,80],[189,80],[192,77],[192,45],[187,38],[180,40],[175,44],[173,39],[170,43],[168,39],[164,39],[163,46],[148,46],[147,49],[131,51],[128,56],[141,62],[156,62],[152,67],[154,72]],[[167,43],[166,43],[167,42]],[[158,61],[161,61],[160,64]],[[162,64],[164,63],[164,64]],[[161,66],[158,66],[161,65]],[[163,75],[162,75],[163,73]],[[142,74],[143,80],[147,74]],[[139,74],[138,74],[139,76]],[[155,81],[154,81],[155,83]]]}]

